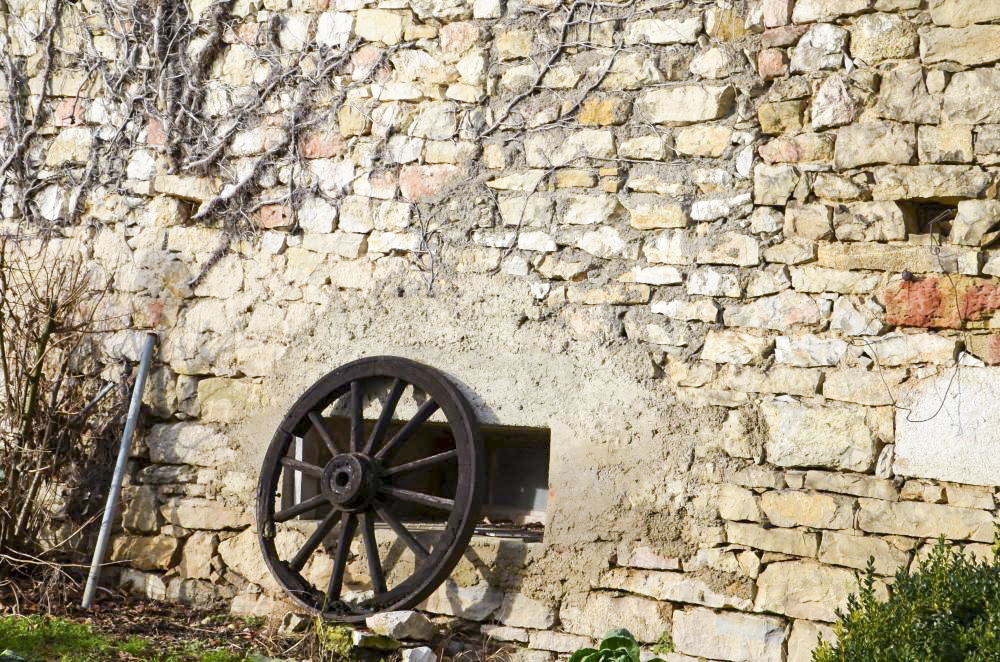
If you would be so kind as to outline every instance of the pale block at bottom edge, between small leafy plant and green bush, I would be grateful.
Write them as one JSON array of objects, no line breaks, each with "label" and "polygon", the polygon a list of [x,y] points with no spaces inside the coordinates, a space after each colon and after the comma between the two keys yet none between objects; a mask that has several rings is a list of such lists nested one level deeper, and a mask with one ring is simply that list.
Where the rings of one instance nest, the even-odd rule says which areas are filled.
[{"label": "pale block at bottom edge, between small leafy plant and green bush", "polygon": [[784,659],[786,626],[771,616],[685,609],[674,614],[671,635],[677,650],[686,655],[733,662]]}]

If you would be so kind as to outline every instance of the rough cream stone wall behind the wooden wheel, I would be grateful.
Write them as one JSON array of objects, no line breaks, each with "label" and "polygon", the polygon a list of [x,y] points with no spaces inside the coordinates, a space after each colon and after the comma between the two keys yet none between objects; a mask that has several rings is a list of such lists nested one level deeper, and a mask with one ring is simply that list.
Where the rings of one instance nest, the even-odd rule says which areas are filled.
[{"label": "rough cream stone wall behind the wooden wheel", "polygon": [[[292,92],[268,97],[208,173],[131,118],[124,179],[65,230],[114,274],[109,365],[161,334],[115,544],[137,590],[281,609],[250,528],[263,448],[316,377],[380,353],[551,430],[545,541],[477,539],[426,605],[525,659],[621,625],[669,634],[670,662],[800,662],[870,556],[888,577],[938,535],[987,552],[995,3],[226,9],[210,115],[261,93],[268,31],[286,59],[349,60],[320,119],[296,132]],[[25,158],[72,174],[116,120],[60,66]],[[215,212],[251,179],[257,233],[234,237]],[[59,220],[70,195],[36,203]]]}]

